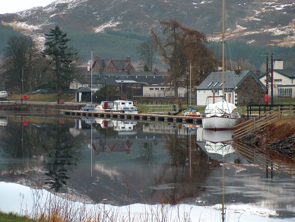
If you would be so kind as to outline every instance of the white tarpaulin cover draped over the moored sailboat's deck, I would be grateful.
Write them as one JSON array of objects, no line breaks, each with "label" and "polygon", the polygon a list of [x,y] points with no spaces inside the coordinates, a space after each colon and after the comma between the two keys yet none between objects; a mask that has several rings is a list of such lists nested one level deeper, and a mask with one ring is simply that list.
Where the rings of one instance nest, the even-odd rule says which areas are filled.
[{"label": "white tarpaulin cover draped over the moored sailboat's deck", "polygon": [[223,116],[225,114],[231,114],[234,109],[237,107],[235,104],[232,104],[227,101],[220,101],[216,103],[212,103],[206,106],[204,112],[206,114],[206,117],[211,116]]}]

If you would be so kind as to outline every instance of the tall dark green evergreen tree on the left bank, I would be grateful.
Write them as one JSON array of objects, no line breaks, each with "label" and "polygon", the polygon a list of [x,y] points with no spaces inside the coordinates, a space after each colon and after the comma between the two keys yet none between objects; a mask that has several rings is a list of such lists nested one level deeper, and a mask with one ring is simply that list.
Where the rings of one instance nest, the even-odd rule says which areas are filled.
[{"label": "tall dark green evergreen tree on the left bank", "polygon": [[81,65],[81,58],[73,47],[68,47],[67,34],[63,34],[59,26],[50,29],[50,34],[45,34],[47,42],[44,56],[50,59],[49,70],[51,80],[48,84],[61,95],[63,90],[69,89],[70,83],[78,77],[75,67]]}]

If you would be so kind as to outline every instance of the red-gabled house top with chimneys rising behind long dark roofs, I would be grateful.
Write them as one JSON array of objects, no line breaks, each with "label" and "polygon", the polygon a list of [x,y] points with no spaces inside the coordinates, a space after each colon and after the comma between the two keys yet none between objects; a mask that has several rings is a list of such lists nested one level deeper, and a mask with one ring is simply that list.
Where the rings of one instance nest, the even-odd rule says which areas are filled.
[{"label": "red-gabled house top with chimneys rising behind long dark roofs", "polygon": [[92,67],[88,67],[89,71],[92,68],[92,71],[101,72],[136,72],[129,56],[127,56],[126,59],[100,59],[99,56],[96,56]]}]

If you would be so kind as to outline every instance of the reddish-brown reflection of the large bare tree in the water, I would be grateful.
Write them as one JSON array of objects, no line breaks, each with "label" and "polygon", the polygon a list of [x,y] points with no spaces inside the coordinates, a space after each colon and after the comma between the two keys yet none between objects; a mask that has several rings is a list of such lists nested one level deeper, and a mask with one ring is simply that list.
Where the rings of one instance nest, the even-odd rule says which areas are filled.
[{"label": "reddish-brown reflection of the large bare tree in the water", "polygon": [[[166,148],[171,155],[171,163],[165,163],[158,170],[154,178],[156,189],[151,196],[157,196],[160,203],[179,203],[183,198],[200,196],[204,191],[207,177],[211,174],[210,165],[207,163],[207,154],[191,137],[191,171],[185,166],[186,146],[185,139],[177,135],[167,135]],[[189,151],[190,152],[190,151]],[[202,170],[200,170],[200,168]],[[167,186],[157,189],[158,186]]]}]

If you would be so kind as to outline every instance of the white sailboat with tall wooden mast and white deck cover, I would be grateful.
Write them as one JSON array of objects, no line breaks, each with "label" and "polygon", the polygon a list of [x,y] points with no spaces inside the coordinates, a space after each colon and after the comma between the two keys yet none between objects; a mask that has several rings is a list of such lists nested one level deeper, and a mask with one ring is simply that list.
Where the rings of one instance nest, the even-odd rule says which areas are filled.
[{"label": "white sailboat with tall wooden mast and white deck cover", "polygon": [[[207,130],[229,130],[241,120],[240,108],[226,101],[224,97],[224,0],[222,0],[222,94],[207,97],[208,104],[203,113],[202,125]],[[209,103],[209,99],[218,102]],[[221,100],[221,101],[220,101]]]}]

